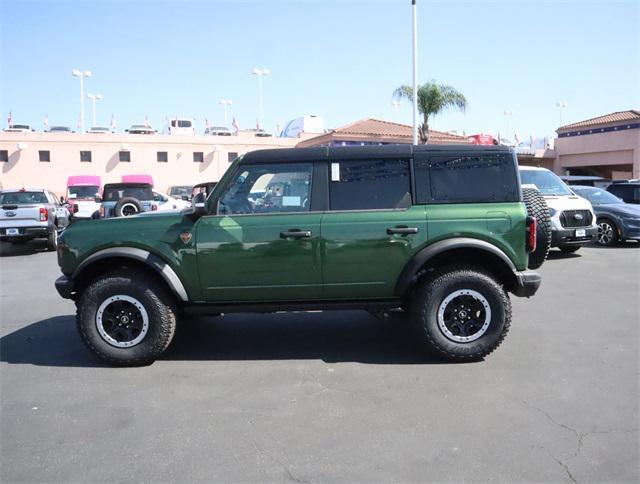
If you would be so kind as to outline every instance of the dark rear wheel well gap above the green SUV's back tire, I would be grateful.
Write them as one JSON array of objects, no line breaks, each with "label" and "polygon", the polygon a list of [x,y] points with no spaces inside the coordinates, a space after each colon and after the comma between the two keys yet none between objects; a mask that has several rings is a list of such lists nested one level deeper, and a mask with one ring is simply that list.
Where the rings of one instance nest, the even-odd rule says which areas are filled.
[{"label": "dark rear wheel well gap above the green SUV's back tire", "polygon": [[518,281],[512,268],[499,256],[487,250],[463,247],[441,252],[427,260],[416,272],[408,292],[434,271],[447,266],[462,265],[484,270],[503,284],[508,291],[513,291],[517,287]]}]

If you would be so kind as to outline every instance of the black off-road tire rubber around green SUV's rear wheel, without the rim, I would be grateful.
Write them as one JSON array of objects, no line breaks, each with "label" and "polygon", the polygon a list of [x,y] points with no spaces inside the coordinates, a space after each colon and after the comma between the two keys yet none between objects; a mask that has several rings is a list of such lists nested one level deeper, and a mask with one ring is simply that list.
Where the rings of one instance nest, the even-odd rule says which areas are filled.
[{"label": "black off-road tire rubber around green SUV's rear wheel, without the rim", "polygon": [[[459,290],[478,292],[491,309],[489,326],[475,341],[453,341],[438,324],[440,305]],[[447,267],[419,284],[412,301],[411,318],[419,341],[430,353],[450,361],[476,361],[502,343],[511,325],[511,301],[504,288],[482,269]]]}]

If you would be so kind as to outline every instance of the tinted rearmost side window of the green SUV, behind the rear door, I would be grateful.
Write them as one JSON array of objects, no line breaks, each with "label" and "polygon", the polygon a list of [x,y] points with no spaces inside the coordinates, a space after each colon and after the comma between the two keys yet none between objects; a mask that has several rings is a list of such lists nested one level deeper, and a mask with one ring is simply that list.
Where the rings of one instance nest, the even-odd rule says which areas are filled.
[{"label": "tinted rearmost side window of the green SUV, behind the rear door", "polygon": [[518,177],[509,154],[452,154],[416,159],[420,203],[518,201]]}]

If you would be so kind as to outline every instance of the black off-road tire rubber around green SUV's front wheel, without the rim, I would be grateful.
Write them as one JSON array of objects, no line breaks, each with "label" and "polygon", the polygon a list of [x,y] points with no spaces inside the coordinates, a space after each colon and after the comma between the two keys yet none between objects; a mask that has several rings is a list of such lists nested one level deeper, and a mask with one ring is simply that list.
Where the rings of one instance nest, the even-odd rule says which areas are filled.
[{"label": "black off-road tire rubber around green SUV's front wheel, without the rim", "polygon": [[[98,308],[107,298],[126,295],[137,299],[146,310],[149,328],[135,346],[118,348],[98,331]],[[140,271],[120,270],[93,280],[77,303],[76,324],[88,348],[102,360],[117,366],[153,363],[169,346],[176,329],[177,305],[173,294],[158,280]]]}]

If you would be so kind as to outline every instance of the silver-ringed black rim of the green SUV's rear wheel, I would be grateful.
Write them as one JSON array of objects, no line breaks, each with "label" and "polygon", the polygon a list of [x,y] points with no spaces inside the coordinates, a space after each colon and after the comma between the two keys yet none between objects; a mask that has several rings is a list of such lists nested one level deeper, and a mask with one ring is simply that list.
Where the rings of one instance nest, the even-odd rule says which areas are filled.
[{"label": "silver-ringed black rim of the green SUV's rear wheel", "polygon": [[[461,301],[475,302],[469,304]],[[470,332],[471,334],[464,330],[467,324],[473,330]],[[442,334],[456,343],[469,343],[481,338],[487,332],[490,324],[491,307],[489,301],[472,289],[460,289],[452,292],[444,298],[438,307],[438,327]],[[454,332],[456,327],[458,334]]]}]

